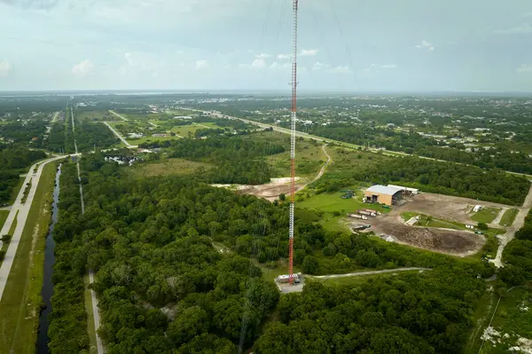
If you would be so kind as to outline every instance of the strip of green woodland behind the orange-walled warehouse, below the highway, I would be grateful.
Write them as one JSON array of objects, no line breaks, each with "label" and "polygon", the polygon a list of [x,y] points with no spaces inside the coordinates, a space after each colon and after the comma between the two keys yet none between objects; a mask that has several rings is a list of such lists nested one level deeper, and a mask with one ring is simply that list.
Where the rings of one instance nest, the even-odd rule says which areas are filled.
[{"label": "strip of green woodland behind the orange-walled warehouse, below the highway", "polygon": [[480,169],[413,156],[399,158],[363,151],[335,151],[335,163],[328,173],[310,185],[317,193],[339,191],[359,182],[372,185],[401,183],[424,192],[521,205],[530,187],[527,178],[500,169]]}]

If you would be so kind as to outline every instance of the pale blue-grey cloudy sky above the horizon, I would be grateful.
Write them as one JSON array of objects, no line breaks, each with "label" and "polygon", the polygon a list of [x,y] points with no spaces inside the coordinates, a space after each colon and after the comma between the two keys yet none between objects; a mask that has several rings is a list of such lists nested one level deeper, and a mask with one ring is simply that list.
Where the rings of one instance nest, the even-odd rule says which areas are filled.
[{"label": "pale blue-grey cloudy sky above the horizon", "polygon": [[[530,0],[300,0],[298,90],[530,91]],[[290,90],[291,0],[0,0],[0,90]]]}]

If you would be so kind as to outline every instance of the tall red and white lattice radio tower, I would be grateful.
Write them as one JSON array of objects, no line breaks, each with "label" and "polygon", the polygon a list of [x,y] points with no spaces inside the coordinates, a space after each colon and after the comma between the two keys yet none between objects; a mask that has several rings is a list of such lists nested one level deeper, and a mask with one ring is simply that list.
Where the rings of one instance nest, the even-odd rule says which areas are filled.
[{"label": "tall red and white lattice radio tower", "polygon": [[292,114],[290,119],[290,233],[288,240],[288,274],[293,283],[293,208],[295,201],[295,120],[297,115],[297,11],[298,0],[293,0],[293,48],[292,48]]}]

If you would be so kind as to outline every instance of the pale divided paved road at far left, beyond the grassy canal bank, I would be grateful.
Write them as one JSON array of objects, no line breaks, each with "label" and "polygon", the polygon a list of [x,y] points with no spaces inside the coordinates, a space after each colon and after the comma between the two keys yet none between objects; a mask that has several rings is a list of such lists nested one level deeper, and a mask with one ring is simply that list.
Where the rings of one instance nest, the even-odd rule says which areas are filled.
[{"label": "pale divided paved road at far left, beyond the grassy canal bank", "polygon": [[[27,174],[27,177],[24,180],[24,185],[29,183],[30,180],[32,180],[32,183],[29,189],[29,193],[27,193],[26,202],[25,203],[21,202],[24,196],[25,188],[20,188],[20,192],[19,192],[19,195],[17,196],[17,200],[12,205],[12,209],[9,213],[9,216],[7,216],[7,220],[5,221],[4,227],[0,231],[0,234],[2,235],[7,234],[12,227],[12,224],[15,220],[15,216],[17,215],[17,212],[19,212],[19,215],[17,216],[17,227],[15,228],[15,231],[12,234],[12,240],[9,243],[7,252],[5,253],[4,261],[2,262],[2,265],[0,266],[0,300],[2,300],[2,295],[4,294],[5,284],[7,283],[7,279],[9,277],[9,273],[12,268],[13,259],[15,258],[15,255],[17,254],[17,248],[19,248],[20,237],[22,236],[22,232],[24,231],[24,227],[26,226],[27,215],[33,203],[35,192],[36,192],[37,186],[39,185],[41,174],[43,173],[43,168],[46,164],[48,164],[51,161],[56,161],[56,160],[60,160],[64,158],[66,158],[66,155],[53,157],[45,161],[37,162],[32,167],[29,168],[29,173]],[[39,165],[39,168],[37,169],[36,173],[33,173],[33,170],[35,169],[37,164]],[[2,248],[2,241],[0,241],[0,248]]]}]

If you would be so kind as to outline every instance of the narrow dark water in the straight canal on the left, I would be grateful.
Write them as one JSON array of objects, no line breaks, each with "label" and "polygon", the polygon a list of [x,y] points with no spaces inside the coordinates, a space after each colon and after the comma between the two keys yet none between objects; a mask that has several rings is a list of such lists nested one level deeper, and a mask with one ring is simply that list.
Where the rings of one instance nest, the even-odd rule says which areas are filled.
[{"label": "narrow dark water in the straight canal on the left", "polygon": [[37,334],[37,354],[48,354],[48,316],[51,312],[51,295],[53,295],[53,283],[51,282],[51,274],[53,272],[52,266],[55,263],[55,241],[53,240],[53,228],[58,222],[58,203],[59,203],[59,177],[61,176],[61,165],[56,173],[55,186],[53,188],[53,203],[51,205],[51,225],[46,236],[46,250],[44,251],[44,280],[43,303],[46,307],[41,311],[39,319],[39,333]]}]

